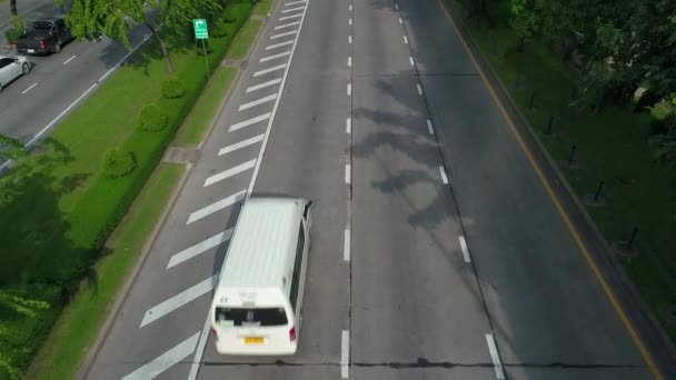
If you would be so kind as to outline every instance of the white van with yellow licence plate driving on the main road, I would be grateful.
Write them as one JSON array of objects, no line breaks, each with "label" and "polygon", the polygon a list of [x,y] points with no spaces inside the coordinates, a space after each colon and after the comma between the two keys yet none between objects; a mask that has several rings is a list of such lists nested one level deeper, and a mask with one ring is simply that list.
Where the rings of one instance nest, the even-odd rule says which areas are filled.
[{"label": "white van with yellow licence plate driving on the main road", "polygon": [[296,352],[311,204],[281,197],[245,202],[210,310],[219,353]]}]

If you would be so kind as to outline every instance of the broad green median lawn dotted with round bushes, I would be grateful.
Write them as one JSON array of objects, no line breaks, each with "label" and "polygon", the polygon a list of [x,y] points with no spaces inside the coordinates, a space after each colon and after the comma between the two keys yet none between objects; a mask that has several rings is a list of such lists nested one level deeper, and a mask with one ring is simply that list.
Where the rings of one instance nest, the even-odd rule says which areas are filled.
[{"label": "broad green median lawn dotted with round bushes", "polygon": [[[211,67],[220,62],[250,10],[248,2],[226,8],[223,18],[233,22],[227,24],[226,37],[210,39]],[[173,76],[187,90],[183,97],[161,96],[162,81],[169,74],[157,42],[149,41],[23,162],[32,176],[12,202],[0,207],[0,294],[36,301],[31,303],[34,310],[29,310],[30,314],[0,302],[0,379],[26,370],[63,307],[73,304],[72,297],[83,279],[96,284],[93,289],[100,297],[97,302],[106,304],[113,299],[112,293],[103,293],[102,289],[110,290],[106,287],[112,287],[116,279],[103,282],[98,272],[100,267],[92,264],[107,259],[111,252],[122,256],[123,248],[111,251],[111,247],[103,243],[127,214],[206,84],[203,57],[196,52],[192,42],[178,39],[168,42]],[[161,131],[146,132],[138,127],[141,108],[151,102],[167,116],[167,127]],[[116,179],[102,173],[103,157],[113,147],[133,154],[137,167],[130,174]],[[10,176],[17,172],[21,171],[14,170]],[[129,252],[136,253],[138,250]],[[132,261],[120,258],[113,262],[103,266],[129,266]],[[88,291],[91,292],[84,290]],[[72,347],[58,350],[74,352],[78,347],[87,346],[105,313],[105,309],[96,309],[93,303],[89,310],[99,314],[91,314],[88,322],[68,321],[70,316],[77,319],[86,314],[78,311],[77,304],[72,307],[74,311],[69,309],[61,318],[63,327],[56,333],[78,336],[80,331],[69,327],[81,324],[89,334],[73,338]],[[50,344],[53,343],[48,343],[48,348],[53,347]],[[37,366],[57,366],[56,361],[61,361],[58,354],[41,353],[42,363],[47,364]],[[66,371],[66,367],[62,370]]]}]

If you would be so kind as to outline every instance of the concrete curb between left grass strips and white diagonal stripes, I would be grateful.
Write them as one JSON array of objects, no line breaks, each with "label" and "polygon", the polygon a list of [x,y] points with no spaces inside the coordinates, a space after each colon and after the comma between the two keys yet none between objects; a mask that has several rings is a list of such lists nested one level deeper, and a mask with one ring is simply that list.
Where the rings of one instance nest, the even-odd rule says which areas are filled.
[{"label": "concrete curb between left grass strips and white diagonal stripes", "polygon": [[[249,16],[249,18],[251,16],[254,16],[254,13],[251,13]],[[258,31],[258,34],[256,36],[256,39],[254,39],[254,42],[249,47],[249,50],[247,51],[247,58],[251,53],[251,50],[254,50],[254,48],[256,46],[258,46],[260,36],[262,34],[262,31],[265,30],[265,24],[267,22],[267,19],[268,19],[267,17],[264,19],[261,28]],[[246,59],[245,59],[245,64],[246,64]],[[210,127],[207,130],[207,133],[205,133],[205,138],[199,143],[199,146],[197,147],[198,153],[197,153],[197,157],[196,157],[195,161],[198,161],[199,158],[201,157],[201,147],[202,147],[203,142],[207,141],[209,139],[209,137],[211,136],[211,133],[213,131],[213,127],[216,127],[216,121],[222,114],[225,106],[227,104],[228,100],[230,100],[230,96],[232,94],[233,89],[239,83],[239,80],[240,80],[242,71],[243,71],[242,69],[238,70],[237,77],[232,81],[232,84],[228,89],[228,92],[226,93],[226,96],[223,97],[222,101],[220,102],[220,104],[219,104],[219,111],[213,116],[212,120],[210,121]],[[183,174],[181,176],[181,179],[179,180],[178,186],[176,187],[176,189],[173,189],[173,191],[171,193],[171,197],[169,199],[169,202],[165,207],[165,210],[162,211],[162,214],[160,216],[160,219],[158,220],[155,229],[152,230],[152,232],[150,233],[150,236],[146,240],[146,243],[143,244],[141,253],[140,253],[140,256],[139,256],[136,264],[133,266],[133,269],[132,269],[131,273],[129,274],[129,277],[126,280],[126,282],[122,286],[122,288],[120,289],[120,292],[117,294],[116,300],[115,300],[112,307],[110,308],[110,310],[108,312],[108,317],[106,317],[106,321],[103,322],[103,326],[101,327],[101,330],[99,331],[99,334],[97,336],[97,339],[95,340],[95,343],[92,344],[92,347],[89,348],[89,351],[88,351],[87,356],[82,360],[82,363],[80,364],[80,369],[78,370],[78,373],[77,373],[77,379],[78,380],[84,380],[84,379],[87,379],[87,376],[89,374],[89,371],[91,370],[91,366],[93,364],[95,358],[99,354],[99,351],[101,350],[102,343],[106,340],[106,338],[108,337],[108,333],[110,332],[110,329],[112,328],[112,323],[115,322],[115,320],[116,320],[116,318],[117,318],[120,309],[122,308],[122,304],[127,300],[127,297],[129,296],[129,291],[131,291],[132,284],[138,279],[138,276],[139,276],[139,273],[141,271],[141,268],[146,263],[146,260],[148,259],[148,254],[150,253],[151,248],[155,246],[155,242],[156,242],[156,240],[157,240],[157,238],[159,236],[159,232],[165,227],[165,224],[167,222],[167,219],[169,217],[169,213],[171,212],[171,210],[173,210],[173,207],[176,206],[176,202],[178,201],[178,196],[182,192],[183,187],[187,183],[187,180],[188,180],[188,177],[190,174],[190,170],[191,169],[192,169],[192,164],[191,163],[186,164]]]}]

